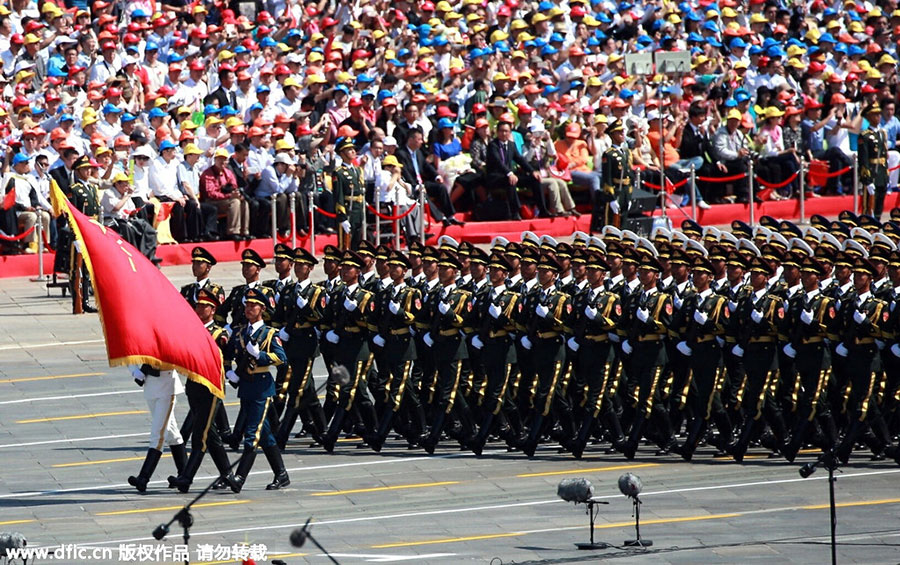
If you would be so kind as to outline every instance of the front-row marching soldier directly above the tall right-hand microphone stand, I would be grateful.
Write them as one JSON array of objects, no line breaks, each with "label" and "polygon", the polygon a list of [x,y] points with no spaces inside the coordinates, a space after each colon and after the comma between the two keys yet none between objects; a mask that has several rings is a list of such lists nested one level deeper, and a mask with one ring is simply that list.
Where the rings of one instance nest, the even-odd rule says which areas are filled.
[{"label": "front-row marching soldier directly above the tall right-hand microphone stand", "polygon": [[[781,453],[793,461],[805,444],[809,426],[817,421],[822,427],[828,448],[837,442],[837,426],[831,416],[827,401],[827,388],[831,372],[831,353],[825,344],[840,323],[834,301],[819,291],[822,265],[813,257],[802,260],[800,273],[803,292],[789,302],[787,326],[789,342],[784,353],[794,361],[800,379],[797,400],[797,421],[791,431],[791,439]],[[842,309],[855,312],[852,304]],[[840,353],[839,353],[840,354]]]}]

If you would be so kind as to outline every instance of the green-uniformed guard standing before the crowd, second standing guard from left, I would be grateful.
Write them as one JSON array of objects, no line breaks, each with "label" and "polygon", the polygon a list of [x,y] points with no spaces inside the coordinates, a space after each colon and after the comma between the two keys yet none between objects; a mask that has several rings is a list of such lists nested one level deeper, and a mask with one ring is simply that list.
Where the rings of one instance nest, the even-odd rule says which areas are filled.
[{"label": "green-uniformed guard standing before the crowd, second standing guard from left", "polygon": [[334,209],[341,229],[338,241],[342,249],[356,249],[359,242],[364,239],[362,222],[366,187],[362,169],[353,164],[353,160],[356,159],[356,145],[353,144],[353,140],[345,138],[337,146],[337,151],[341,156],[341,164],[334,170],[332,191]]}]

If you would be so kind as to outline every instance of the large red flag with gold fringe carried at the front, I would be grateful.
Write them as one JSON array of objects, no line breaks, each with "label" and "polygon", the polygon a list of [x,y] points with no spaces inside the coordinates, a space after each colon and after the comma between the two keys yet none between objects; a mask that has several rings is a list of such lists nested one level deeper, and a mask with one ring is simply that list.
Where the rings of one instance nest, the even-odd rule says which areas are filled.
[{"label": "large red flag with gold fringe carried at the front", "polygon": [[140,251],[51,185],[54,209],[68,216],[81,241],[110,367],[149,363],[174,369],[224,398],[222,354],[187,301]]}]

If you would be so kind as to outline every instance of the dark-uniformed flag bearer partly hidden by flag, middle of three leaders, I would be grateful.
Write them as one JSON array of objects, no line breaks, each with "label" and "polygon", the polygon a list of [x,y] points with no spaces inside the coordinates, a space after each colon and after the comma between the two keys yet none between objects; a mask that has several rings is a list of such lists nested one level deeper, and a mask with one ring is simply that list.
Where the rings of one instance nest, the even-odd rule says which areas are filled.
[{"label": "dark-uniformed flag bearer partly hidden by flag, middle of three leaders", "polygon": [[[212,283],[199,290],[194,304],[194,312],[197,313],[200,321],[206,326],[220,349],[224,349],[227,345],[228,334],[225,333],[225,328],[216,324],[213,318],[223,300],[225,300],[225,291],[219,285]],[[222,401],[206,386],[196,381],[188,380],[184,385],[184,392],[188,397],[191,414],[193,414],[191,419],[193,437],[191,456],[178,477],[169,477],[169,488],[178,488],[180,492],[187,492],[207,451],[219,471],[220,481],[227,483],[227,477],[231,474],[231,463],[228,461],[228,454],[222,445],[219,431],[214,425],[217,414],[223,412],[225,407],[222,405]]]}]

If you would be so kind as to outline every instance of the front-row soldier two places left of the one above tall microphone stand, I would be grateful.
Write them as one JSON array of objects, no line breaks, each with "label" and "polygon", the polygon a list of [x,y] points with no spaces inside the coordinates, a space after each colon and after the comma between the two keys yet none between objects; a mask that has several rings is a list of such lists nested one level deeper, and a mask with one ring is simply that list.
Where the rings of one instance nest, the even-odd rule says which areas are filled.
[{"label": "front-row soldier two places left of the one above tall microphone stand", "polygon": [[687,438],[675,449],[685,461],[690,461],[694,456],[710,419],[719,430],[722,448],[731,443],[731,422],[719,396],[723,380],[723,335],[731,311],[725,297],[710,288],[713,266],[708,258],[694,259],[691,275],[696,293],[690,302],[682,306],[688,321],[687,332],[685,339],[676,345],[678,351],[688,358],[691,371],[686,386],[690,387],[687,398],[692,419]]}]

